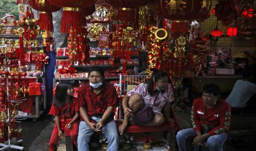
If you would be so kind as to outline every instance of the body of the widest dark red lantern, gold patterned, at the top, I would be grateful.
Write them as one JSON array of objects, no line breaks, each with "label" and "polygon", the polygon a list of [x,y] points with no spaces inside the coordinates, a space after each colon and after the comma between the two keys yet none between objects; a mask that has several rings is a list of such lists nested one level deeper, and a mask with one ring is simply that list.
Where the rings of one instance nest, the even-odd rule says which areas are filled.
[{"label": "body of the widest dark red lantern, gold patterned, at the top", "polygon": [[152,8],[159,16],[170,20],[206,19],[210,16],[211,0],[155,0]]}]

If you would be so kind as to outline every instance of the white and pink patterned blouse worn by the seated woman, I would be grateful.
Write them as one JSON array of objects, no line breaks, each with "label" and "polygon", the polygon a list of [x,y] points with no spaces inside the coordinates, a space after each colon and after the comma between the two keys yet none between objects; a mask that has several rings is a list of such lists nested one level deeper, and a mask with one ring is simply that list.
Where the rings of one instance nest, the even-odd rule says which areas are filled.
[{"label": "white and pink patterned blouse worn by the seated woman", "polygon": [[[144,100],[144,105],[152,105],[155,100],[155,96],[150,96],[147,88],[148,84],[141,83],[133,88],[131,91],[127,93],[128,96],[132,96],[134,94],[139,94]],[[161,113],[162,108],[165,106],[167,102],[174,101],[173,98],[173,90],[170,84],[168,84],[167,89],[164,93],[160,92],[158,97],[156,98],[155,105],[153,107],[154,112]]]}]

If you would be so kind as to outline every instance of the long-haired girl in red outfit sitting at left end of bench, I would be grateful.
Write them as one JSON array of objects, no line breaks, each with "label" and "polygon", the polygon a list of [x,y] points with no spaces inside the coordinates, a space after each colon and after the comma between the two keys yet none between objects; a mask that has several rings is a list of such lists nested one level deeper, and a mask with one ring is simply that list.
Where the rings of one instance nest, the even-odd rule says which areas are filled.
[{"label": "long-haired girl in red outfit sitting at left end of bench", "polygon": [[50,151],[57,150],[57,143],[59,137],[63,137],[63,132],[70,135],[77,146],[79,103],[72,95],[71,83],[60,82],[56,86],[55,98],[49,112],[55,116],[55,125],[49,142]]}]

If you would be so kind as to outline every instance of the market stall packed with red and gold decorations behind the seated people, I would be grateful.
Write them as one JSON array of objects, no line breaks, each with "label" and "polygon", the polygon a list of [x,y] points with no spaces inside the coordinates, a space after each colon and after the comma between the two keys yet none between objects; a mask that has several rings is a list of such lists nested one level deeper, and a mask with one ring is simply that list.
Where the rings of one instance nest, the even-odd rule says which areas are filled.
[{"label": "market stall packed with red and gold decorations behind the seated people", "polygon": [[[45,109],[48,112],[57,83],[70,81],[77,90],[88,82],[91,67],[104,69],[106,81],[116,87],[119,97],[122,90],[138,84],[137,79],[128,83],[126,77],[150,77],[150,69],[162,69],[181,106],[187,85],[192,97],[200,95],[205,83],[216,83],[228,94],[242,73],[255,67],[253,1],[17,3],[19,20],[7,14],[1,16],[0,25],[0,142],[9,141],[7,148],[12,138],[21,139],[19,119],[36,120]],[[38,19],[32,9],[40,11]],[[62,12],[62,24],[53,24],[56,11]],[[60,31],[53,31],[59,26]],[[67,38],[55,44],[54,34],[60,32]],[[179,125],[172,126],[177,130]],[[123,146],[132,147],[130,141]],[[170,149],[166,144],[162,148]]]}]

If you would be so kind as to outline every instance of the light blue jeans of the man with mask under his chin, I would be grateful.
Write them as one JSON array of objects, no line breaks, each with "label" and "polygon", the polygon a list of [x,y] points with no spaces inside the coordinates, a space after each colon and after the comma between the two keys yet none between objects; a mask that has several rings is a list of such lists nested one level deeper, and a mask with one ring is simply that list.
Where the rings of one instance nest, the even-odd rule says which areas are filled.
[{"label": "light blue jeans of the man with mask under his chin", "polygon": [[[90,127],[85,123],[85,121],[81,121],[79,124],[78,131],[78,150],[79,151],[89,151],[89,143],[91,140],[91,135],[94,133],[90,129]],[[119,135],[117,132],[117,126],[115,121],[110,121],[105,124],[102,128],[102,133],[107,138],[107,151],[115,151],[118,150],[119,146]]]}]

